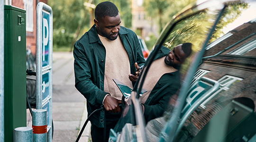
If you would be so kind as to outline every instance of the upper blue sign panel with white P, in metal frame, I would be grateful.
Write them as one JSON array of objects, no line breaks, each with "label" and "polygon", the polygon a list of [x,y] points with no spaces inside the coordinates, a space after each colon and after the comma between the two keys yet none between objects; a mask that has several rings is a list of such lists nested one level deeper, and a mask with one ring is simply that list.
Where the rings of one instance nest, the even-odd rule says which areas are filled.
[{"label": "upper blue sign panel with white P, in metal frame", "polygon": [[49,21],[50,21],[50,14],[49,12],[43,10],[42,11],[42,67],[48,66],[49,65]]}]

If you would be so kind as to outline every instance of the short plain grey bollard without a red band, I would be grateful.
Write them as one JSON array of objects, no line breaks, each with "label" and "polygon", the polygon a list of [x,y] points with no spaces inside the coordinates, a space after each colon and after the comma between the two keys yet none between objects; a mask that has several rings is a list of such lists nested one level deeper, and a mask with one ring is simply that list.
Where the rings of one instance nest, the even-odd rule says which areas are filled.
[{"label": "short plain grey bollard without a red band", "polygon": [[18,127],[13,132],[13,142],[33,142],[31,127]]}]

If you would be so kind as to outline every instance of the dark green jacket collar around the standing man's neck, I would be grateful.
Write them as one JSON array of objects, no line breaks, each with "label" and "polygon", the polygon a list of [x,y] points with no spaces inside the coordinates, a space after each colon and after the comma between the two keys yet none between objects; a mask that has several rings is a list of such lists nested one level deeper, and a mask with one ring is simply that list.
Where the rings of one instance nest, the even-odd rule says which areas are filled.
[{"label": "dark green jacket collar around the standing man's neck", "polygon": [[[94,24],[91,29],[88,31],[88,36],[89,36],[89,43],[95,43],[99,42],[100,38],[98,36],[98,33],[96,31],[96,25]],[[128,30],[125,27],[120,26],[119,30],[119,36],[122,38],[124,35],[128,34]]]}]

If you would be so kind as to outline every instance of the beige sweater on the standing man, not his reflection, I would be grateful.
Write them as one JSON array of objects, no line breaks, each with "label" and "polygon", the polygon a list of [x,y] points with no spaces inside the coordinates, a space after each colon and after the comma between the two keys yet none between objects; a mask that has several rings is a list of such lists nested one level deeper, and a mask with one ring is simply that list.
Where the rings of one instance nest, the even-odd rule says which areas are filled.
[{"label": "beige sweater on the standing man, not his reflection", "polygon": [[128,77],[130,74],[128,53],[119,36],[116,40],[109,40],[101,35],[99,37],[106,49],[104,91],[110,93],[111,97],[121,100],[122,93],[112,79],[117,79],[132,88],[132,82]]}]

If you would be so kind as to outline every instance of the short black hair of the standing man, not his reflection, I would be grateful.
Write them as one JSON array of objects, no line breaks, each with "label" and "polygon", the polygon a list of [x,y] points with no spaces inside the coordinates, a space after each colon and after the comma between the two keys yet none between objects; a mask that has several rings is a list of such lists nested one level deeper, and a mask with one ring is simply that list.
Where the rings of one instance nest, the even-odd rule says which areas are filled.
[{"label": "short black hair of the standing man, not his reflection", "polygon": [[99,3],[95,8],[95,19],[99,21],[100,18],[116,17],[119,14],[117,6],[110,1],[103,1]]}]

